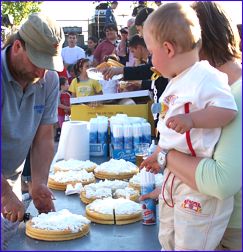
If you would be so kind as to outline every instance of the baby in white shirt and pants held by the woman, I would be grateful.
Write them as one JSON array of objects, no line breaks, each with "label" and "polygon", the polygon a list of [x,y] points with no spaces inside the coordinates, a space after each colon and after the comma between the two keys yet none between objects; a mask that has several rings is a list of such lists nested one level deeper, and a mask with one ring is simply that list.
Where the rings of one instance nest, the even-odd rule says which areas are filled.
[{"label": "baby in white shirt and pants held by the woman", "polygon": [[[201,29],[196,13],[180,3],[164,4],[145,21],[143,35],[154,67],[170,82],[159,100],[159,147],[141,167],[150,170],[157,160],[165,168],[170,149],[211,157],[220,127],[235,117],[237,108],[227,76],[207,61],[199,62]],[[168,169],[164,177],[159,199],[163,249],[214,250],[227,227],[233,198],[219,200],[194,191]]]}]

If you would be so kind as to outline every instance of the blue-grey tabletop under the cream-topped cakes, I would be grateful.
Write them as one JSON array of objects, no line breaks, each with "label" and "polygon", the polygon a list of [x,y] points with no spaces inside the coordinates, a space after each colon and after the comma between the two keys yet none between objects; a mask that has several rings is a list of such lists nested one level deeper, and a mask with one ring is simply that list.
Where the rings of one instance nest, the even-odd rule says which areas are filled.
[{"label": "blue-grey tabletop under the cream-topped cakes", "polygon": [[[100,163],[99,159],[94,162]],[[66,196],[63,191],[54,191],[56,210],[66,208],[72,213],[85,216],[85,204],[78,194]],[[37,211],[31,202],[28,212],[36,216]],[[158,211],[157,211],[158,213]],[[158,214],[157,214],[158,215]],[[157,225],[145,226],[142,222],[128,225],[90,224],[87,236],[63,242],[46,242],[25,235],[25,224],[21,223],[17,236],[9,242],[8,250],[14,251],[160,251],[158,241],[159,221]]]}]

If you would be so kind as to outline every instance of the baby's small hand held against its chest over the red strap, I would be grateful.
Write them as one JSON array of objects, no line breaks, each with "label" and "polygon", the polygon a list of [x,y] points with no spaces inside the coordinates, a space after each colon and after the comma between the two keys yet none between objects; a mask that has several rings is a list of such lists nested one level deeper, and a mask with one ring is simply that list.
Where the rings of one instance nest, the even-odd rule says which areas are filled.
[{"label": "baby's small hand held against its chest over the red strap", "polygon": [[180,114],[168,118],[166,126],[177,133],[184,134],[186,131],[192,129],[194,124],[190,114]]}]

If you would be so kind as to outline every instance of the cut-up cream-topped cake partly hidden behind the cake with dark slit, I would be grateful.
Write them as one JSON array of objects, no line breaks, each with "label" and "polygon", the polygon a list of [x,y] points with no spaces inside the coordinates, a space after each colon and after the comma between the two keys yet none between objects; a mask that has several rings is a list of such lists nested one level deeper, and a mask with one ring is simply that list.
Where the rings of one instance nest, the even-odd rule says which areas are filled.
[{"label": "cut-up cream-topped cake partly hidden behind the cake with dark slit", "polygon": [[105,180],[84,186],[80,193],[81,201],[89,204],[96,199],[128,198],[137,201],[139,192],[128,187],[128,182],[122,180]]}]

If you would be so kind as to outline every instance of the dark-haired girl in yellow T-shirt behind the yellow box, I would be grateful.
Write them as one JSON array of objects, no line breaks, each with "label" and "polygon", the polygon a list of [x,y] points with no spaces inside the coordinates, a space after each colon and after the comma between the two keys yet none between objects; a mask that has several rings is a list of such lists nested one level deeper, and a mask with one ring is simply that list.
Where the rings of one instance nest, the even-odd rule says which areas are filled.
[{"label": "dark-haired girl in yellow T-shirt behind the yellow box", "polygon": [[92,80],[88,77],[88,68],[88,59],[79,59],[75,64],[74,71],[78,76],[72,80],[69,87],[69,91],[72,93],[73,97],[103,94],[100,83],[97,80]]}]

